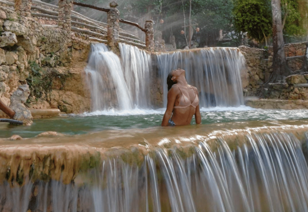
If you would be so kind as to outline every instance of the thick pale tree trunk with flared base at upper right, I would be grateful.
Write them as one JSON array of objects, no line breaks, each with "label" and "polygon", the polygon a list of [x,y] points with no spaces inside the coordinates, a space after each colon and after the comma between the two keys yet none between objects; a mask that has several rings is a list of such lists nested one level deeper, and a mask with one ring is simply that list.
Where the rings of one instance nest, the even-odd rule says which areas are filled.
[{"label": "thick pale tree trunk with flared base at upper right", "polygon": [[281,6],[280,0],[272,0],[273,13],[273,73],[271,82],[282,80],[285,76],[291,74],[287,67],[284,55],[284,41],[281,23]]}]

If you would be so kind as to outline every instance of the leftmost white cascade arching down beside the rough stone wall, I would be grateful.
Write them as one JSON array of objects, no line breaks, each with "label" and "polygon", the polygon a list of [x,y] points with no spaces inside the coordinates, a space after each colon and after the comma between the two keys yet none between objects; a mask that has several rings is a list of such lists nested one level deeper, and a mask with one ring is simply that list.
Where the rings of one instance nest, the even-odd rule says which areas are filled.
[{"label": "leftmost white cascade arching down beside the rough stone wall", "polygon": [[93,111],[115,107],[116,104],[122,110],[131,109],[131,97],[125,83],[121,61],[104,44],[91,45],[85,71],[90,86]]}]

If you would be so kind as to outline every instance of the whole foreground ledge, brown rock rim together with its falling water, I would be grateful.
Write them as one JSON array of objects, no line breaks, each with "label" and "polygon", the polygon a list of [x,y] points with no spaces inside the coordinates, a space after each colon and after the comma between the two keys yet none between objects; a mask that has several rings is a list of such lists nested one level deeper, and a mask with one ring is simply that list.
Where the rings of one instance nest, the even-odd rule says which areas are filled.
[{"label": "whole foreground ledge, brown rock rim together with its falling water", "polygon": [[0,207],[302,211],[308,122],[224,126],[229,130],[213,124],[2,140]]}]

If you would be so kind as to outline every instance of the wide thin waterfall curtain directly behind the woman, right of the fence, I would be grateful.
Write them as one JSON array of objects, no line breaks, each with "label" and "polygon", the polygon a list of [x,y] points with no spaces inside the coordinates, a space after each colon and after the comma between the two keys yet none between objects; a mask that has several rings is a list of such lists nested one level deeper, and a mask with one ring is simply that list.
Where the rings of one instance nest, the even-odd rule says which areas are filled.
[{"label": "wide thin waterfall curtain directly behind the woman, right of the fence", "polygon": [[244,103],[240,71],[245,59],[237,48],[207,48],[157,55],[167,105],[167,76],[175,69],[186,71],[188,84],[197,87],[200,107],[234,107]]}]

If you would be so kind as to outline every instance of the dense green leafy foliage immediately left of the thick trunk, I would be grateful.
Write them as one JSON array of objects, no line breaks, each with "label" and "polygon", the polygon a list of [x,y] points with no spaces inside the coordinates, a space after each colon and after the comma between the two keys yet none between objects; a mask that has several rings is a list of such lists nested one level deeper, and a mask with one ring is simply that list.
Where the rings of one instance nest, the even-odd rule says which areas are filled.
[{"label": "dense green leafy foliage immediately left of the thick trunk", "polygon": [[234,0],[234,25],[238,31],[258,41],[272,34],[272,9],[269,0]]}]

